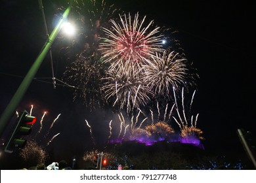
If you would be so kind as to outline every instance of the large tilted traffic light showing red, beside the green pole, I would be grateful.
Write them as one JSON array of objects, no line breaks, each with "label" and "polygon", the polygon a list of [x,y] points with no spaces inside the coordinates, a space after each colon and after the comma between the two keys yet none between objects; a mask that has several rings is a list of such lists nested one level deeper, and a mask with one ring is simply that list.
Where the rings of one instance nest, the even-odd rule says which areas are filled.
[{"label": "large tilted traffic light showing red, beside the green pole", "polygon": [[30,116],[26,110],[20,112],[11,131],[11,135],[7,139],[7,143],[5,143],[5,152],[12,153],[14,148],[22,148],[26,145],[26,139],[22,139],[22,136],[31,133],[31,125],[34,124],[35,121],[36,117]]}]

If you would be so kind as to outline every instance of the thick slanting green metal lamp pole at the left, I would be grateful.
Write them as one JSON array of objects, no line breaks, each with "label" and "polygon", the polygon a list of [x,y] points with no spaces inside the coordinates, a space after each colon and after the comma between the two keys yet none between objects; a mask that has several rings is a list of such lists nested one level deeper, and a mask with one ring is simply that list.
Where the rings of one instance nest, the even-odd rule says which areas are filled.
[{"label": "thick slanting green metal lamp pole at the left", "polygon": [[5,108],[1,118],[0,118],[0,136],[3,134],[3,131],[7,127],[9,121],[11,120],[12,115],[14,114],[16,108],[20,104],[20,101],[24,97],[24,94],[28,90],[28,87],[30,86],[30,83],[33,80],[33,77],[35,76],[35,73],[37,73],[37,70],[39,69],[43,59],[45,59],[45,56],[47,55],[47,52],[51,48],[51,45],[53,44],[56,36],[58,35],[62,22],[66,20],[68,17],[68,14],[70,13],[70,8],[68,7],[64,14],[62,15],[62,18],[59,20],[56,27],[54,27],[53,32],[51,33],[49,39],[45,42],[43,45],[43,48],[41,49],[41,52],[35,59],[35,62],[33,63],[32,67],[28,71],[27,75],[22,80],[22,83],[20,84],[18,90],[16,90],[16,93],[14,93],[9,105]]}]

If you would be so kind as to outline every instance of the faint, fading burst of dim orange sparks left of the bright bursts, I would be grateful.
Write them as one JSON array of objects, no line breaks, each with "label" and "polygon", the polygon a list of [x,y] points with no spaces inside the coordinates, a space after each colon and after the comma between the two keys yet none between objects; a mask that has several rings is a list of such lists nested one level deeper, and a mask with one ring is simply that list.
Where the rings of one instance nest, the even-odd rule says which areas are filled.
[{"label": "faint, fading burst of dim orange sparks left of the bright bursts", "polygon": [[106,67],[98,61],[97,56],[80,56],[71,63],[64,76],[67,82],[75,86],[74,100],[83,99],[85,106],[90,108],[104,105],[104,96],[100,88],[105,70]]}]

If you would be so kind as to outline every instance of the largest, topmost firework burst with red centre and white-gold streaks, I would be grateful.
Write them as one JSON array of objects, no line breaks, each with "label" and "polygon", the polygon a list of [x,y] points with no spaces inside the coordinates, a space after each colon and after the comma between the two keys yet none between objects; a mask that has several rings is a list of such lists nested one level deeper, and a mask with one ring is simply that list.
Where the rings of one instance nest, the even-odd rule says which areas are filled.
[{"label": "largest, topmost firework burst with red centre and white-gold streaks", "polygon": [[104,29],[106,37],[100,43],[100,51],[104,62],[110,62],[110,69],[117,71],[127,71],[133,68],[136,63],[140,64],[147,61],[149,57],[154,56],[155,52],[162,52],[160,27],[150,30],[153,25],[151,21],[144,26],[145,18],[139,19],[139,13],[132,18],[124,14],[119,15],[120,22],[110,20],[112,29]]}]

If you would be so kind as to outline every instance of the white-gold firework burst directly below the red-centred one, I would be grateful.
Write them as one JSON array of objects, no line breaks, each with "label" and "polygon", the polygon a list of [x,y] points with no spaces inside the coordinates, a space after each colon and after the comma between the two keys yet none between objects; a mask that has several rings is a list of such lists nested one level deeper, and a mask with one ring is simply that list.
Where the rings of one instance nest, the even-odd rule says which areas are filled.
[{"label": "white-gold firework burst directly below the red-centred one", "polygon": [[127,113],[133,108],[145,105],[150,99],[150,90],[143,84],[137,69],[129,69],[124,73],[108,71],[102,87],[105,97],[113,107],[118,106],[119,110],[126,108]]}]

